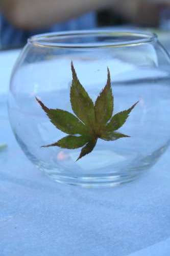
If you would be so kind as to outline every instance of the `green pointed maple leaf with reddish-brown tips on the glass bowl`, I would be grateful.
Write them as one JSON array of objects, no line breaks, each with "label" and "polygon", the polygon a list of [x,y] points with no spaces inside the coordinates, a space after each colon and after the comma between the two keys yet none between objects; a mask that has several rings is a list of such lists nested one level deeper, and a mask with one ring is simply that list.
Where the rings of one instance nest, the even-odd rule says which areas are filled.
[{"label": "green pointed maple leaf with reddish-brown tips on the glass bowl", "polygon": [[80,83],[72,62],[71,71],[70,103],[75,115],[60,109],[48,109],[38,98],[36,99],[57,129],[67,134],[66,137],[56,143],[43,147],[59,146],[72,150],[82,147],[77,159],[79,160],[93,151],[99,138],[114,141],[130,137],[117,132],[117,130],[125,124],[129,114],[138,102],[130,109],[113,115],[114,97],[109,69],[106,86],[96,99],[95,104]]}]

